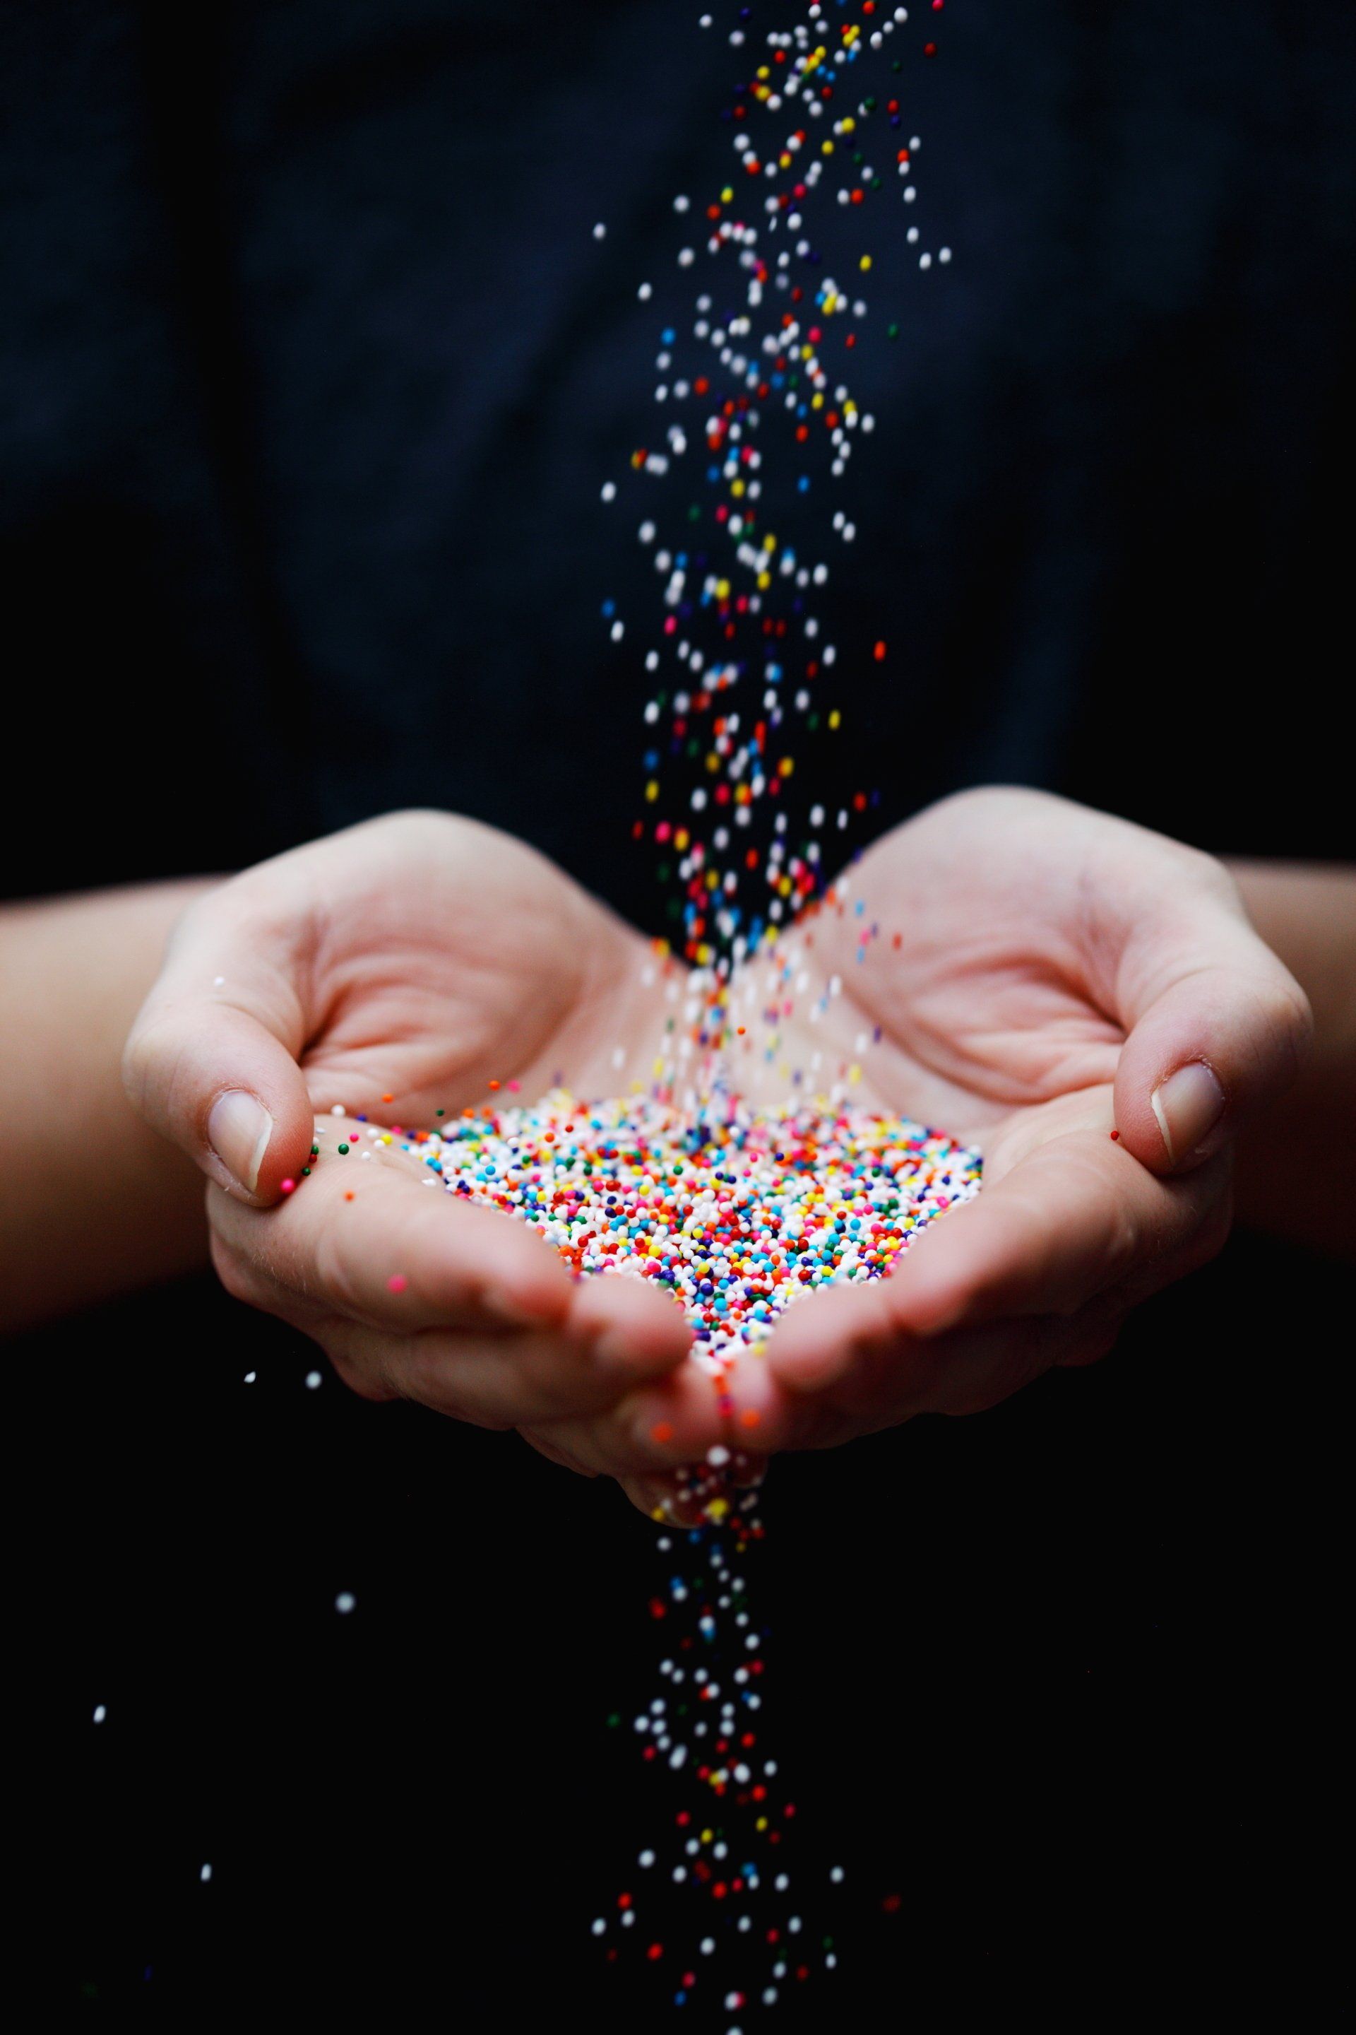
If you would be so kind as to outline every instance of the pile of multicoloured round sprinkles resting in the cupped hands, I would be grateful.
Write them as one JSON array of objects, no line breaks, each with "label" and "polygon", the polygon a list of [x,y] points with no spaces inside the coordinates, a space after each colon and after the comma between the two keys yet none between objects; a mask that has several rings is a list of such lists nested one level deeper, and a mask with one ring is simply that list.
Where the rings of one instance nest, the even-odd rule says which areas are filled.
[{"label": "pile of multicoloured round sprinkles resting in the cupped hands", "polygon": [[667,1286],[716,1380],[793,1300],[888,1272],[980,1176],[976,1152],[919,1123],[823,1103],[754,1111],[722,1089],[695,1111],[555,1091],[415,1150],[449,1193],[518,1215],[575,1272]]}]

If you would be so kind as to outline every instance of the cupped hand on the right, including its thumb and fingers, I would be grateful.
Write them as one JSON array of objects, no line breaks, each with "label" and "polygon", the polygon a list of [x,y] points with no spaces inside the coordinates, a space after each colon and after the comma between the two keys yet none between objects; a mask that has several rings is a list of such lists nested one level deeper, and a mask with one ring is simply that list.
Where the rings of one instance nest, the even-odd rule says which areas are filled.
[{"label": "cupped hand on the right, including its thumb and fingers", "polygon": [[1222,1243],[1234,1133],[1309,1036],[1220,863],[1035,792],[897,828],[785,948],[752,1003],[797,971],[842,989],[819,1022],[795,999],[781,1058],[860,1062],[854,1101],[976,1144],[984,1186],[888,1278],[797,1302],[740,1363],[768,1453],[980,1410],[1102,1355]]}]

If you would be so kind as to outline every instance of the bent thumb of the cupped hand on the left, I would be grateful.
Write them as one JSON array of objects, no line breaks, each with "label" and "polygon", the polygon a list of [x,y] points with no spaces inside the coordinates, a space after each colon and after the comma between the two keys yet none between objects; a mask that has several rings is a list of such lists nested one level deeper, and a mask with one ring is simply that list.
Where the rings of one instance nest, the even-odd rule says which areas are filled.
[{"label": "bent thumb of the cupped hand on the left", "polygon": [[297,1056],[295,934],[250,879],[201,897],[171,936],[122,1056],[132,1107],[218,1186],[264,1207],[297,1178],[315,1113]]}]

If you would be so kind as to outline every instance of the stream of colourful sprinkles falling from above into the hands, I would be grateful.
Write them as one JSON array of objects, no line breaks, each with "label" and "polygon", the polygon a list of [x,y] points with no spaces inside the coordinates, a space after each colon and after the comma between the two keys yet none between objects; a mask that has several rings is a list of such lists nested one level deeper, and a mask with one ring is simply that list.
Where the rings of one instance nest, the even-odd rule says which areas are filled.
[{"label": "stream of colourful sprinkles falling from above into the hands", "polygon": [[[823,830],[846,832],[878,802],[850,792],[829,820],[805,773],[795,779],[801,733],[842,724],[842,706],[821,698],[838,645],[821,639],[815,600],[829,580],[823,554],[856,537],[831,497],[876,423],[850,385],[854,354],[868,334],[901,336],[899,317],[870,324],[866,293],[878,277],[886,295],[903,293],[901,254],[917,275],[951,260],[949,246],[923,244],[923,140],[901,98],[937,55],[943,0],[915,8],[923,28],[886,0],[809,0],[777,8],[758,39],[754,12],[738,8],[728,37],[742,69],[722,108],[732,173],[705,204],[673,199],[675,265],[699,289],[689,307],[659,285],[661,421],[622,478],[626,501],[640,497],[636,535],[663,586],[644,625],[653,735],[632,832],[653,842],[661,883],[677,883],[675,944],[697,967],[738,963],[793,918],[821,887]],[[703,14],[701,28],[714,26]],[[907,222],[897,230],[882,216],[892,204]],[[886,228],[874,250],[862,232],[872,214]],[[655,285],[638,295],[649,303]],[[606,480],[604,503],[618,497]],[[620,643],[616,600],[602,615]],[[866,643],[868,670],[882,665],[888,643],[870,631]]]}]

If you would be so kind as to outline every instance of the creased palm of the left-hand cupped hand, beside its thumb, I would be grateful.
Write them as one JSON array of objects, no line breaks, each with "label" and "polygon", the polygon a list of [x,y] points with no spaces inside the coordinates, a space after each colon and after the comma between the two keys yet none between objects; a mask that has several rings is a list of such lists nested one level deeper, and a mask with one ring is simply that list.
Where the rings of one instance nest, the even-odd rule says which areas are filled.
[{"label": "creased palm of the left-hand cupped hand, beside its thumb", "polygon": [[340,836],[317,875],[299,1011],[317,1109],[431,1123],[490,1083],[604,1093],[655,1032],[644,940],[504,834],[411,814]]}]

